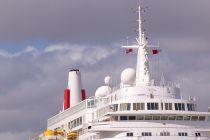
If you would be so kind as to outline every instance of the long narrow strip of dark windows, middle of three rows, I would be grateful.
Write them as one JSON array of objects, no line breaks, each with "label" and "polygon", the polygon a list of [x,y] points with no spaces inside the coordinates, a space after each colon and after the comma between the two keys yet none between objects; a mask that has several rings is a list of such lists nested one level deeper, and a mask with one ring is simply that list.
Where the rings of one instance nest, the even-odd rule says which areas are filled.
[{"label": "long narrow strip of dark windows, middle of three rows", "polygon": [[157,116],[157,115],[138,115],[138,116],[114,116],[115,121],[126,120],[178,120],[178,121],[205,121],[205,116]]}]

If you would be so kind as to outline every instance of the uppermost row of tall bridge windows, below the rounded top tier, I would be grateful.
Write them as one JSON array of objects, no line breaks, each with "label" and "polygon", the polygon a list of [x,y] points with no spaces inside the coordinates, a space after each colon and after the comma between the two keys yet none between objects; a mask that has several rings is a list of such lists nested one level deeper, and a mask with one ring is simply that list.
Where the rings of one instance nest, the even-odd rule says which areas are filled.
[{"label": "uppermost row of tall bridge windows, below the rounded top tier", "polygon": [[[159,110],[159,103],[158,102],[151,102],[146,103],[147,110]],[[172,103],[161,103],[161,110],[163,110],[163,105],[165,105],[165,110],[173,110]],[[185,104],[184,103],[174,103],[174,109],[175,110],[185,110]],[[114,104],[112,106],[113,111],[118,111],[118,104]],[[121,103],[120,104],[120,111],[128,111],[131,110],[131,103]],[[145,103],[133,103],[133,110],[145,110]],[[188,111],[195,111],[195,104],[187,103],[187,110]]]}]

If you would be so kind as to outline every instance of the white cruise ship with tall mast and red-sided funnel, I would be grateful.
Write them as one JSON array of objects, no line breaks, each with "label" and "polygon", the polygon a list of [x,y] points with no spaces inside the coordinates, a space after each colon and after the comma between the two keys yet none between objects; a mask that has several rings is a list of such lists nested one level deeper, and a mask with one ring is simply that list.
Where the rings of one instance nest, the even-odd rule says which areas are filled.
[{"label": "white cruise ship with tall mast and red-sided funnel", "polygon": [[[151,76],[150,55],[159,47],[148,44],[138,6],[136,44],[122,46],[137,52],[136,69],[121,73],[119,86],[104,78],[92,97],[86,97],[81,73],[71,69],[63,110],[47,120],[35,140],[210,140],[210,109],[197,110],[196,98],[184,99],[180,85]],[[190,88],[190,87],[189,87]]]}]

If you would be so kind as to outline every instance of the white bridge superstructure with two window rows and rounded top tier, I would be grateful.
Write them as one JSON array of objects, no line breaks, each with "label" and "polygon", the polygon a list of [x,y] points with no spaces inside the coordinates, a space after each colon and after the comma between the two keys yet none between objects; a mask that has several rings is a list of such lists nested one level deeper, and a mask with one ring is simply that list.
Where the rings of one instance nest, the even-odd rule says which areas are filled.
[{"label": "white bridge superstructure with two window rows and rounded top tier", "polygon": [[[97,93],[98,94],[98,93]],[[102,95],[102,94],[101,94]],[[164,86],[119,86],[106,96],[92,97],[94,120],[192,120],[206,121],[209,113],[197,112],[193,98],[183,99],[178,84]]]}]

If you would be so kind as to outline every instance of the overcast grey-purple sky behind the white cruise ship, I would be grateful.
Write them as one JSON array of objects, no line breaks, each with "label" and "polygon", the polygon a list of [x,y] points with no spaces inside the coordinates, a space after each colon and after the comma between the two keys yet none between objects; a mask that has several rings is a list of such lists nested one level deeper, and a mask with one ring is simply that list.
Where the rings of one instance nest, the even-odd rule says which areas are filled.
[{"label": "overcast grey-purple sky behind the white cruise ship", "polygon": [[[62,108],[68,70],[79,68],[88,95],[111,75],[135,68],[120,46],[136,37],[138,0],[0,1],[0,139],[46,129]],[[158,71],[179,82],[198,108],[210,106],[210,1],[144,0],[146,35],[160,44]]]}]

